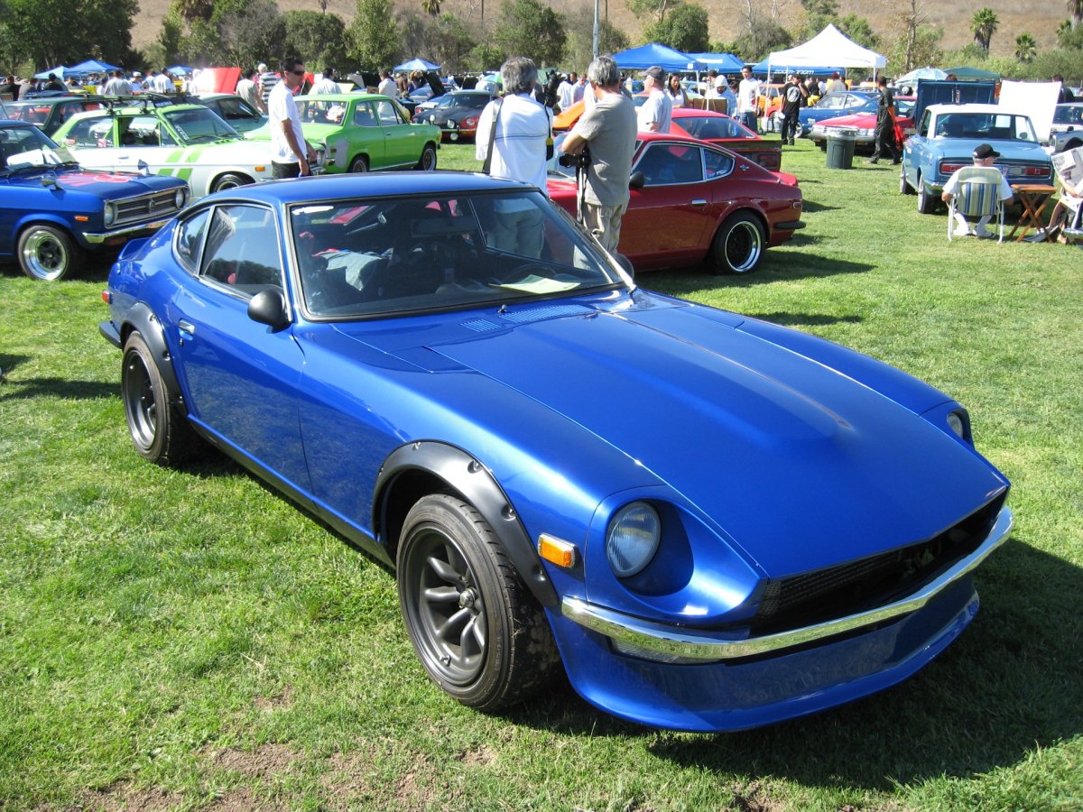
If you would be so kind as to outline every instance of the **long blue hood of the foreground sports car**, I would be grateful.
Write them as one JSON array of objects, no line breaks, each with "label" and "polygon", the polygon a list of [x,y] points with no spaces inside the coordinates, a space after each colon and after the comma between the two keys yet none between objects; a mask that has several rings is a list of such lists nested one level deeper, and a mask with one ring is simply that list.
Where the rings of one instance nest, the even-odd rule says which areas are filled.
[{"label": "long blue hood of the foreground sports car", "polygon": [[[593,443],[618,449],[771,576],[930,537],[1006,487],[945,430],[741,320],[679,303],[556,304],[470,318],[423,354],[382,349],[412,363],[436,353],[544,404],[585,430],[580,459]],[[916,385],[923,409],[948,401]],[[514,409],[506,420],[553,457],[544,425],[524,434]]]}]

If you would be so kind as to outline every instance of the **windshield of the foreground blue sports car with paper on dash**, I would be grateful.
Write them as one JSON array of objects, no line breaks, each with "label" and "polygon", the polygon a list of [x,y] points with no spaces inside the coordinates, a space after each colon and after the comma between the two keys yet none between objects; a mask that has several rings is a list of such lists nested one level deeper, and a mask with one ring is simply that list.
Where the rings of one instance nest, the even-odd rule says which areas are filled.
[{"label": "windshield of the foreground blue sports car with paper on dash", "polygon": [[314,316],[490,306],[623,284],[537,191],[305,204],[290,223]]}]

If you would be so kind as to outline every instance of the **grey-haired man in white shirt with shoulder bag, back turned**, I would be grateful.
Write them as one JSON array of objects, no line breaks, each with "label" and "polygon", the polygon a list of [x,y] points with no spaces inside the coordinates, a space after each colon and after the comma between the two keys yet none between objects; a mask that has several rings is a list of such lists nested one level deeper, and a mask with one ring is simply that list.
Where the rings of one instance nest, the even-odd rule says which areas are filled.
[{"label": "grey-haired man in white shirt with shoulder bag, back turned", "polygon": [[[488,157],[494,178],[523,181],[546,191],[546,161],[552,144],[549,108],[534,99],[538,69],[525,56],[512,56],[500,67],[504,99],[490,102],[478,119],[474,157]],[[490,148],[492,147],[492,155]],[[521,257],[542,256],[543,212],[526,199],[497,200],[494,247]]]}]

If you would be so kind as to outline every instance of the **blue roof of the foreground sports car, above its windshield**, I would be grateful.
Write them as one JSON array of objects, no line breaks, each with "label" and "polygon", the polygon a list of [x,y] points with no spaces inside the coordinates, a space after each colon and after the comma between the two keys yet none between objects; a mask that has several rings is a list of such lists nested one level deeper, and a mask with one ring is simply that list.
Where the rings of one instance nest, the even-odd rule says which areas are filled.
[{"label": "blue roof of the foreground sports car, above its windshield", "polygon": [[[374,172],[310,175],[288,181],[266,181],[222,192],[216,199],[243,198],[271,206],[358,197],[397,195],[444,195],[490,192],[507,188],[533,188],[531,184],[491,178],[481,172],[438,170],[434,172]],[[204,198],[211,199],[210,197]]]}]

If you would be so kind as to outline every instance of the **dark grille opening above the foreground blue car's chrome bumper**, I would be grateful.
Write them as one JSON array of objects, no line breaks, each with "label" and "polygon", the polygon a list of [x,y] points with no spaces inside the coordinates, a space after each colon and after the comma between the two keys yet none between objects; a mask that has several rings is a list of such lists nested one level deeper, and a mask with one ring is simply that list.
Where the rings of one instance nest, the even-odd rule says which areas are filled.
[{"label": "dark grille opening above the foreground blue car's chrome bumper", "polygon": [[1004,503],[994,499],[943,533],[910,547],[768,581],[751,624],[754,636],[801,628],[891,603],[974,552]]}]

